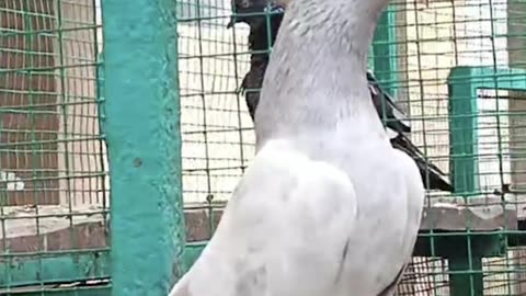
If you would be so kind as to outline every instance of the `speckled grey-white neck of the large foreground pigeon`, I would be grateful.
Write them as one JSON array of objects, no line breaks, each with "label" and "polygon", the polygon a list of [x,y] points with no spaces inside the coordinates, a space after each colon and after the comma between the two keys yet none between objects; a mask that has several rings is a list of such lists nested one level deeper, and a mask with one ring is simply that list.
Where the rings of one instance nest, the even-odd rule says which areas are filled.
[{"label": "speckled grey-white neck of the large foreground pigeon", "polygon": [[[388,0],[293,1],[271,55],[255,114],[268,138],[339,127],[386,137],[367,87],[367,52]],[[345,132],[347,133],[347,132]]]}]

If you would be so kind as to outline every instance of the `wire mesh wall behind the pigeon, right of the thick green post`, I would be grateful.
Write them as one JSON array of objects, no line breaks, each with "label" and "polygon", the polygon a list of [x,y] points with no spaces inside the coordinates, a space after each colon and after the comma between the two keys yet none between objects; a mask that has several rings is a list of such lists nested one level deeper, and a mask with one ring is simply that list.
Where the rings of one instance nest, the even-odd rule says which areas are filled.
[{"label": "wire mesh wall behind the pigeon, right of the thick green post", "polygon": [[[254,155],[237,90],[261,53],[248,47],[249,26],[226,27],[229,0],[178,4],[186,226],[190,241],[206,240]],[[398,295],[525,295],[526,1],[396,0],[390,11],[378,30],[396,37],[374,46],[395,49],[371,50],[369,64],[396,65],[395,80],[373,70],[410,117],[411,141],[455,186],[427,192]],[[464,69],[485,75],[454,76]]]}]

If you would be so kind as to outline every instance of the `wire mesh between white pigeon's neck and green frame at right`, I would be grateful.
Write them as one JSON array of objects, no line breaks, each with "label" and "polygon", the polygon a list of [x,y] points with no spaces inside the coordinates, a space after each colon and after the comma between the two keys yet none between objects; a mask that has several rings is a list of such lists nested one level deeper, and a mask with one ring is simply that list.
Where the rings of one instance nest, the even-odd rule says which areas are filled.
[{"label": "wire mesh between white pigeon's neck and green frame at right", "polygon": [[458,66],[507,66],[506,2],[433,1],[430,5],[397,2],[404,21],[397,25],[402,29],[398,30],[398,102],[411,116],[412,141],[448,172],[447,78]]}]

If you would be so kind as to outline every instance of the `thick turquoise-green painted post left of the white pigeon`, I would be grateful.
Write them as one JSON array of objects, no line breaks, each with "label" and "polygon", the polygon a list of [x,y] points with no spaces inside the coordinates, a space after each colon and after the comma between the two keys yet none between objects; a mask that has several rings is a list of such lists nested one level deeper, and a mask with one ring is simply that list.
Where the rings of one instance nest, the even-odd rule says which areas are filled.
[{"label": "thick turquoise-green painted post left of the white pigeon", "polygon": [[114,296],[165,296],[184,248],[174,0],[104,0]]}]

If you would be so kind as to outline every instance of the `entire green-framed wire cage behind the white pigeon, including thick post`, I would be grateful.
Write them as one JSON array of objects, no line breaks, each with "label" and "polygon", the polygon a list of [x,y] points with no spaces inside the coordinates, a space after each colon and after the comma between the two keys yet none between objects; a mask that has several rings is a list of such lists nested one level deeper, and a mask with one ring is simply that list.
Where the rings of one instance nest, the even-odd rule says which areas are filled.
[{"label": "entire green-framed wire cage behind the white pigeon, including thick post", "polygon": [[[393,0],[369,52],[454,186],[427,192],[398,295],[526,295],[526,2],[428,2]],[[190,269],[254,155],[231,15],[0,1],[0,294],[165,295]]]}]

